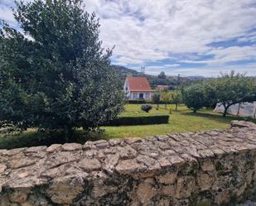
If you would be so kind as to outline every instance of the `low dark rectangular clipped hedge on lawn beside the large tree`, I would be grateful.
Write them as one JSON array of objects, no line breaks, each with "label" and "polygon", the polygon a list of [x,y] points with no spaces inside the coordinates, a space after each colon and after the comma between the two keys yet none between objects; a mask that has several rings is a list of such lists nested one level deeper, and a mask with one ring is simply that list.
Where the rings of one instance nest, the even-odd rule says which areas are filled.
[{"label": "low dark rectangular clipped hedge on lawn beside the large tree", "polygon": [[106,126],[128,126],[128,125],[148,125],[167,124],[169,115],[157,115],[146,117],[118,117],[109,122]]}]

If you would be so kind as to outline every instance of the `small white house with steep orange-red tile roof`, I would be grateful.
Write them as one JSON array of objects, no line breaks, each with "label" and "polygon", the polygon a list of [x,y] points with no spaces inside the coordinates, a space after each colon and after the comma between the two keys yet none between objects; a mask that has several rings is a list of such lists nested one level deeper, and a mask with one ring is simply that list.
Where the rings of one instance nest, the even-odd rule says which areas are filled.
[{"label": "small white house with steep orange-red tile roof", "polygon": [[152,96],[152,89],[145,77],[128,76],[125,79],[123,91],[129,100],[149,100]]}]

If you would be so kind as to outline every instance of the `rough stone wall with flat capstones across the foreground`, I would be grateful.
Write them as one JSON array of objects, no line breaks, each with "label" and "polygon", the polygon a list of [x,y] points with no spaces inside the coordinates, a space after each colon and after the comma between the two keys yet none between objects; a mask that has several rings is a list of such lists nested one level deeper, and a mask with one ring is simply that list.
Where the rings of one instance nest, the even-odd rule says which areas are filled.
[{"label": "rough stone wall with flat capstones across the foreground", "polygon": [[0,151],[0,205],[232,205],[256,197],[256,125]]}]

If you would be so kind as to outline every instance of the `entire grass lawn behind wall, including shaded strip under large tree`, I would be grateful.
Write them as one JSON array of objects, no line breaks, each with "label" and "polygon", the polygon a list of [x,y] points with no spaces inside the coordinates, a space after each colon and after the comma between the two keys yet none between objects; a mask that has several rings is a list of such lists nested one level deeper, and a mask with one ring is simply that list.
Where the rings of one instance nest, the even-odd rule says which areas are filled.
[{"label": "entire grass lawn behind wall, including shaded strip under large tree", "polygon": [[[149,113],[140,109],[141,105],[128,104],[125,111],[120,116],[150,116],[156,114],[169,114],[169,109],[175,108],[174,105],[160,105],[157,110],[153,105]],[[123,137],[147,137],[162,135],[173,132],[197,132],[211,129],[224,129],[229,127],[230,121],[234,119],[244,120],[242,117],[227,116],[222,117],[220,113],[213,113],[210,109],[201,109],[198,113],[192,113],[186,106],[181,105],[178,111],[172,111],[168,124],[158,125],[139,125],[139,126],[119,126],[119,127],[101,127],[105,130],[104,134],[88,134],[82,130],[75,132],[75,138],[71,141],[85,143],[87,140],[96,140],[97,138],[123,138]],[[256,120],[248,119],[256,122]],[[0,149],[11,149],[24,146],[49,146],[53,143],[64,143],[65,137],[61,133],[56,133],[52,137],[46,134],[36,132],[35,129],[29,129],[27,132],[15,134],[12,136],[3,136],[0,134]]]}]

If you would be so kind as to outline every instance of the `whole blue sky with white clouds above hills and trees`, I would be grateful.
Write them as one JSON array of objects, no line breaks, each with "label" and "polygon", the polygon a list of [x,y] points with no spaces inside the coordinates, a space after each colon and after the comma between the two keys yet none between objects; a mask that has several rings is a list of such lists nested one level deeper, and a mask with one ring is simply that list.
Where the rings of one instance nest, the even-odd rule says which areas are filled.
[{"label": "whole blue sky with white clouds above hills and trees", "polygon": [[[17,26],[0,0],[0,18]],[[256,76],[256,0],[85,0],[113,65],[147,74]]]}]

